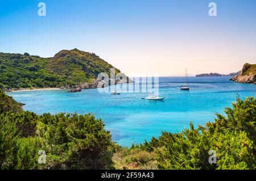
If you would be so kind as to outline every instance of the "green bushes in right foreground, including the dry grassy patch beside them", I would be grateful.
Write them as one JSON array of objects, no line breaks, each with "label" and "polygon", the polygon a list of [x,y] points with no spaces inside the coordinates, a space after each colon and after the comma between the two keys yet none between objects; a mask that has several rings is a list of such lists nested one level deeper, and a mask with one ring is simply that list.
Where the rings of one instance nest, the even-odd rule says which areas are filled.
[{"label": "green bushes in right foreground, including the dry grassy patch beside them", "polygon": [[[133,159],[121,149],[114,161],[118,168],[129,169],[154,167],[154,163],[159,169],[256,169],[256,99],[237,99],[225,113],[205,127],[196,129],[191,123],[181,133],[163,132],[150,142],[125,148],[126,153],[134,153]],[[216,151],[217,164],[209,163],[210,150]]]}]

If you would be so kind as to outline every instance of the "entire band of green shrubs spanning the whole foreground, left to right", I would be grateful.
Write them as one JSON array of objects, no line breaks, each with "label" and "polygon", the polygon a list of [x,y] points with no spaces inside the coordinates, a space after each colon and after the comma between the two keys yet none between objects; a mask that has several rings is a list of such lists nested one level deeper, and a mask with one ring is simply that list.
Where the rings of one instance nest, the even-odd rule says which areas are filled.
[{"label": "entire band of green shrubs spanning the whole foreground, left to right", "polygon": [[[114,144],[92,115],[23,111],[0,90],[0,169],[256,169],[256,99],[237,99],[226,116],[141,145]],[[46,150],[47,162],[38,163]],[[217,163],[209,163],[216,152]]]}]

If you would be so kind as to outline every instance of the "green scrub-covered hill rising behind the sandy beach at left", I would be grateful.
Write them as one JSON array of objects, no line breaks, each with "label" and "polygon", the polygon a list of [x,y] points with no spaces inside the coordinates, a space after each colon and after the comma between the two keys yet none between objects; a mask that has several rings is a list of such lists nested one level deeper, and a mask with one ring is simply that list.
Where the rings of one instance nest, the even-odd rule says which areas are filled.
[{"label": "green scrub-covered hill rising behind the sandy beach at left", "polygon": [[96,54],[78,49],[61,50],[52,58],[0,53],[0,89],[72,87],[93,82],[101,72],[110,74],[110,68]]}]

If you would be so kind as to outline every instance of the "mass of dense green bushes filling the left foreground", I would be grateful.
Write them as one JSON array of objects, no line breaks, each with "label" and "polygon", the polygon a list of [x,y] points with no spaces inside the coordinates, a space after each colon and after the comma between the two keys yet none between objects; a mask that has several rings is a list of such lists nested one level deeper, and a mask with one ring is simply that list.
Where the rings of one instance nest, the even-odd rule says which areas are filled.
[{"label": "mass of dense green bushes filling the left foreground", "polygon": [[[12,100],[8,104],[15,103],[5,98]],[[0,103],[6,102],[0,99]],[[0,108],[0,169],[113,168],[113,143],[102,120],[76,113],[38,116],[16,107],[14,112]],[[38,163],[39,150],[47,153],[45,164]]]}]

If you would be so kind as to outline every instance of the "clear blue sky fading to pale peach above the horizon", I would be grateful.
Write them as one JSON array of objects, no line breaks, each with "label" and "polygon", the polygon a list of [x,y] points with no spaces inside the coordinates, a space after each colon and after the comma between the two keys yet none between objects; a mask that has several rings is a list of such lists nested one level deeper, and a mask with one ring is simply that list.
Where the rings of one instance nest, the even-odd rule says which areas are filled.
[{"label": "clear blue sky fading to pale peach above the horizon", "polygon": [[52,57],[78,48],[128,75],[230,73],[256,63],[255,0],[0,0],[0,24],[0,52]]}]

